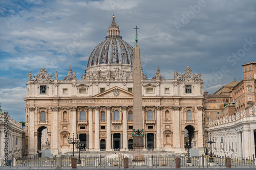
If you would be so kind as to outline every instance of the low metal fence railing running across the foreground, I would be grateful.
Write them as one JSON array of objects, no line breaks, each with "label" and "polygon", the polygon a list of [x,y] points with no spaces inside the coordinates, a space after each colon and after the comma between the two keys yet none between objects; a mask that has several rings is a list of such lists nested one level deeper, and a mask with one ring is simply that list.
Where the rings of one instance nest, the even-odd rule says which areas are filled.
[{"label": "low metal fence railing running across the foreground", "polygon": [[[212,159],[208,155],[201,155],[199,157],[190,157],[188,159],[187,156],[184,155],[171,155],[167,157],[159,157],[159,156],[150,156],[144,157],[141,160],[134,160],[133,156],[129,157],[129,166],[154,166],[154,167],[176,167],[176,158],[180,158],[180,166],[188,167],[188,166],[196,166],[196,167],[226,167],[226,157],[212,157]],[[72,157],[71,156],[61,156],[61,166],[62,167],[72,167]],[[239,158],[235,156],[230,157],[231,167],[255,167],[255,157],[254,155],[245,158]],[[57,161],[56,157],[53,158],[19,158],[15,161],[9,161],[8,166],[14,166],[16,168],[32,168],[32,167],[56,167]],[[6,166],[4,161],[0,161],[0,167]],[[77,166],[79,167],[120,167],[124,166],[124,155],[117,155],[117,157],[80,157],[80,160],[77,159]]]}]

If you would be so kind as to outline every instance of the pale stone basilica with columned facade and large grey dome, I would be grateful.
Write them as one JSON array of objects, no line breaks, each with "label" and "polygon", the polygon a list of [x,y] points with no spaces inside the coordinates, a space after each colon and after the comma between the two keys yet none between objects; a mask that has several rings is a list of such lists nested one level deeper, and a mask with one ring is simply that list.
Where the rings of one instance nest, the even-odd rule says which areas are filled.
[{"label": "pale stone basilica with columned facade and large grey dome", "polygon": [[[143,49],[142,49],[143,50]],[[85,74],[76,79],[71,68],[58,80],[41,68],[27,82],[26,127],[28,154],[41,150],[41,131],[48,129],[53,154],[68,152],[68,138],[80,138],[91,151],[132,149],[133,139],[133,47],[122,40],[113,17],[106,40],[89,57]],[[203,152],[203,82],[191,68],[174,79],[157,69],[147,79],[141,69],[144,147],[184,151],[195,137]]]}]

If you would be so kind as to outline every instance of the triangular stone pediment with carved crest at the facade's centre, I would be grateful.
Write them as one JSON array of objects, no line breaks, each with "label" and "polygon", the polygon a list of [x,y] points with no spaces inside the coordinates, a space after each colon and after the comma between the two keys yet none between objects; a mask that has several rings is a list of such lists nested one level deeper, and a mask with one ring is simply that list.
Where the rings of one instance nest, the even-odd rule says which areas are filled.
[{"label": "triangular stone pediment with carved crest at the facade's centre", "polygon": [[94,98],[131,98],[133,93],[124,90],[118,86],[115,86],[109,90],[99,93],[94,96]]}]

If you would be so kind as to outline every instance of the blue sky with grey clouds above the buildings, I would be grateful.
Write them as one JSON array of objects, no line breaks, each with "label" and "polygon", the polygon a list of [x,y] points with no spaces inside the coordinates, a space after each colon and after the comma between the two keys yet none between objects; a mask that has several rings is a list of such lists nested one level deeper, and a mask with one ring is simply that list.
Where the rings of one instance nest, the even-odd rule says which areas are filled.
[{"label": "blue sky with grey clouds above the buildings", "polygon": [[[113,13],[114,12],[114,13]],[[254,0],[1,0],[0,103],[25,121],[29,71],[41,67],[63,79],[70,66],[80,78],[94,47],[105,39],[115,15],[123,40],[138,45],[144,74],[157,67],[166,79],[189,66],[201,71],[210,94],[236,78],[255,60]]]}]

